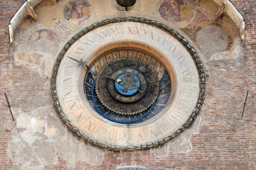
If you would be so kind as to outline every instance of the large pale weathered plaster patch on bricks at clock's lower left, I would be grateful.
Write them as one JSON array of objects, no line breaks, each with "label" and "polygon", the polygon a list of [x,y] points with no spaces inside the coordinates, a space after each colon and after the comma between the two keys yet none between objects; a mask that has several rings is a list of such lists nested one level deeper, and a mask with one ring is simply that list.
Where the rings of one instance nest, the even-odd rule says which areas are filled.
[{"label": "large pale weathered plaster patch on bricks at clock's lower left", "polygon": [[16,128],[12,130],[9,157],[17,169],[35,169],[37,166],[57,164],[58,157],[67,162],[83,161],[102,164],[104,151],[73,136],[59,120],[52,106],[16,113]]}]

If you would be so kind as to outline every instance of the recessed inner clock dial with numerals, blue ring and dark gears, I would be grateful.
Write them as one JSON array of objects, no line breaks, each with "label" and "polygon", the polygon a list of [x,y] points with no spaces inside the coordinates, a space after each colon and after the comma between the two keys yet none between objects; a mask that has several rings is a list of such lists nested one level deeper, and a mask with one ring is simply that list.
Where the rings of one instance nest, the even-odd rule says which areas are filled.
[{"label": "recessed inner clock dial with numerals, blue ring and dark gears", "polygon": [[133,59],[129,55],[119,56],[99,68],[95,79],[90,72],[85,77],[87,101],[93,103],[92,108],[103,118],[115,123],[134,124],[149,120],[164,108],[171,95],[171,78],[164,64],[144,52],[110,52],[96,60],[92,68],[106,56],[120,52],[128,54],[129,51],[134,52]]}]

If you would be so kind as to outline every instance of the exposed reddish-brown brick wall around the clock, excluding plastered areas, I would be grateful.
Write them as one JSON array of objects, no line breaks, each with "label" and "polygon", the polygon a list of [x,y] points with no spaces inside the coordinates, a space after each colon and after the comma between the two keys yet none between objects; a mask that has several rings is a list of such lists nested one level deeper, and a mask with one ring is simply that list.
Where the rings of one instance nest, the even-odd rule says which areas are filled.
[{"label": "exposed reddish-brown brick wall around the clock, excluding plastered areas", "polygon": [[[33,104],[32,108],[52,103],[48,97],[49,79],[39,78],[33,68],[14,64],[15,49],[14,45],[9,44],[7,28],[11,17],[23,2],[0,2],[0,169],[21,169],[21,166],[15,165],[18,161],[14,162],[9,157],[11,153],[7,153],[16,123],[11,120],[4,93],[9,96],[12,107],[23,108],[27,112],[31,111],[26,108],[28,103]],[[199,132],[191,136],[190,151],[168,151],[168,154],[157,157],[151,150],[106,150],[102,164],[97,165],[82,161],[68,162],[58,155],[58,164],[45,164],[40,168],[38,166],[38,169],[116,169],[117,166],[125,165],[159,170],[256,169],[256,2],[233,0],[233,4],[246,22],[246,37],[241,42],[242,55],[235,60],[205,63],[210,77],[207,79],[206,99],[200,113]],[[247,89],[250,93],[245,115],[240,118]]]}]

